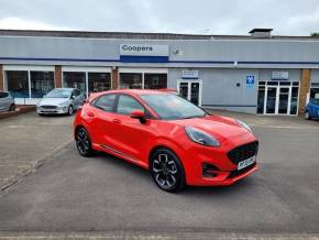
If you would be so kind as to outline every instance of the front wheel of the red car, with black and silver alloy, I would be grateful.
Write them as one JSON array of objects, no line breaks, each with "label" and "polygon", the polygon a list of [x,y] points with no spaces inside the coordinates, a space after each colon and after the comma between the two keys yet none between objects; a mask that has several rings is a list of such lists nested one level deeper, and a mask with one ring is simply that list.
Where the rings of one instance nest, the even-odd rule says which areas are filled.
[{"label": "front wheel of the red car, with black and silver alloy", "polygon": [[185,186],[185,173],[179,159],[168,149],[156,150],[150,161],[156,185],[166,192],[178,192]]}]

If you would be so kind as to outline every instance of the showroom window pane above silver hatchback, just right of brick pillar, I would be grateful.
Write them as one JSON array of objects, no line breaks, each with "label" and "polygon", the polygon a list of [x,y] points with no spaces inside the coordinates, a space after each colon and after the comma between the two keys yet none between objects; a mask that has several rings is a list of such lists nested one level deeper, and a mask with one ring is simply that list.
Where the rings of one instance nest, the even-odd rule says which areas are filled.
[{"label": "showroom window pane above silver hatchback, just right of brick pillar", "polygon": [[79,89],[86,94],[86,73],[84,72],[64,72],[63,86],[67,88]]}]

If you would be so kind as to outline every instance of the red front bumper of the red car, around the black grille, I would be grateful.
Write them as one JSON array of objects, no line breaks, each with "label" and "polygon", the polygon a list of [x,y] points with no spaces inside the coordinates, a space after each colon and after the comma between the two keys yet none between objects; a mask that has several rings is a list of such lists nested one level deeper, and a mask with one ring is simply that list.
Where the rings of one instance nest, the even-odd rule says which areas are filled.
[{"label": "red front bumper of the red car, around the black grille", "polygon": [[[245,135],[244,141],[242,139],[242,135],[234,138],[231,142],[223,143],[221,148],[196,145],[191,151],[188,151],[190,154],[187,154],[187,160],[183,161],[187,184],[193,186],[226,186],[256,172],[258,170],[256,162],[242,170],[238,170],[238,163],[242,160],[235,162],[229,157],[229,153],[239,146],[250,145],[252,143],[256,143],[257,145],[256,138],[251,133]],[[257,150],[254,155],[256,157]],[[204,165],[212,166],[211,175],[204,174]]]}]

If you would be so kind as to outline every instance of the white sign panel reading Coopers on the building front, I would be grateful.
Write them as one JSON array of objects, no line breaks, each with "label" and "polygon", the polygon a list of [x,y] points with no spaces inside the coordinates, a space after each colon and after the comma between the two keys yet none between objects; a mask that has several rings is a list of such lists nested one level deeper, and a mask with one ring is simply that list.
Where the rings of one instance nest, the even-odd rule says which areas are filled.
[{"label": "white sign panel reading Coopers on the building front", "polygon": [[121,56],[168,56],[168,45],[121,44]]}]

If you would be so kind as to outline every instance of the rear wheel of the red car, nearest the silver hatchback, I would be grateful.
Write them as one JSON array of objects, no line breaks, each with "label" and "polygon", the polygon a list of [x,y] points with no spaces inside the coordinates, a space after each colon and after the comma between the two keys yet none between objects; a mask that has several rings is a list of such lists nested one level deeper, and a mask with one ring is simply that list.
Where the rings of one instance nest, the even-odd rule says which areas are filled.
[{"label": "rear wheel of the red car, nearest the silver hatchback", "polygon": [[76,146],[81,156],[91,156],[94,150],[91,148],[91,140],[88,131],[85,128],[79,128],[76,131]]}]

